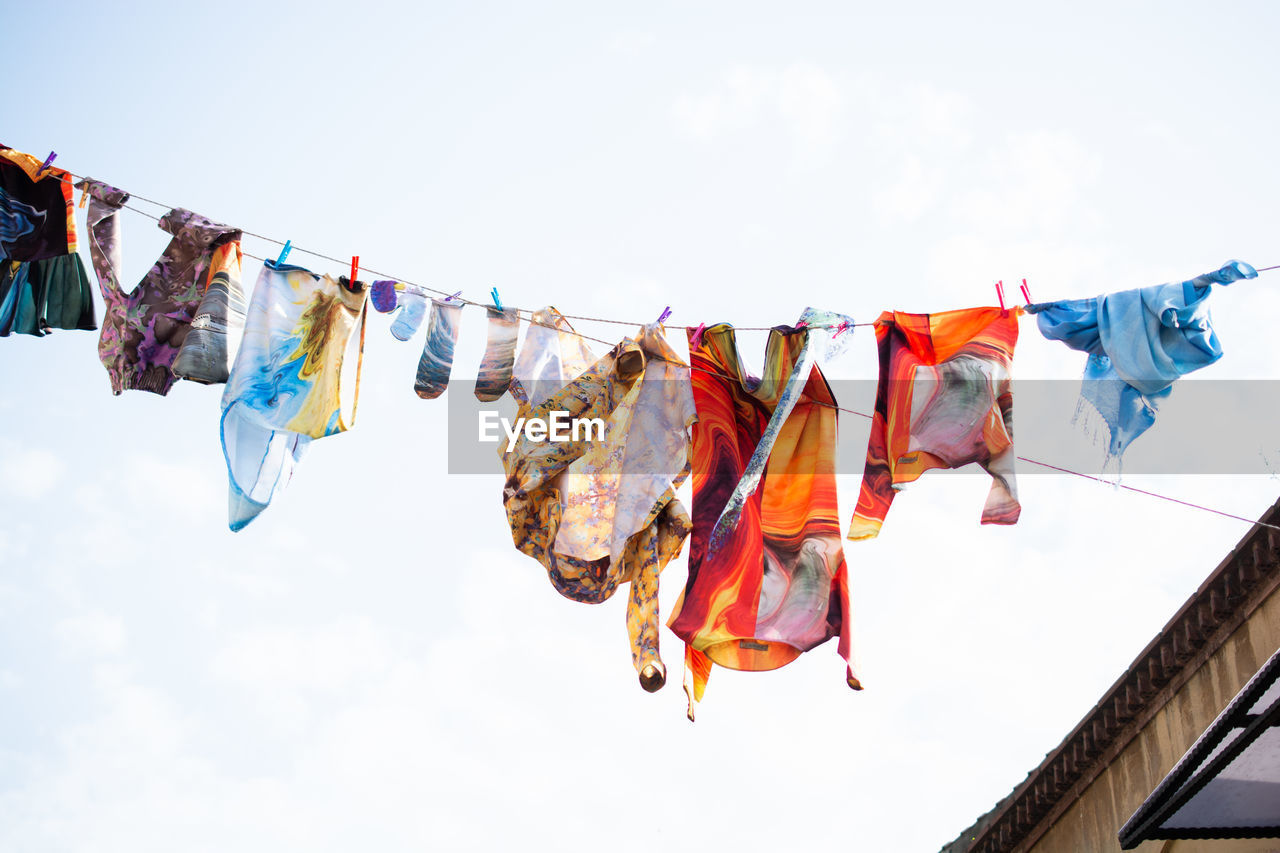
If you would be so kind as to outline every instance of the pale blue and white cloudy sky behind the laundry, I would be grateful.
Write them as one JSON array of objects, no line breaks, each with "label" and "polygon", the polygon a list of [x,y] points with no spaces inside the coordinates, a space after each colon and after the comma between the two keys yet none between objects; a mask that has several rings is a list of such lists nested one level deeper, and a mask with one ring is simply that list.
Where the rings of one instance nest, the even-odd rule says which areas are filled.
[{"label": "pale blue and white cloudy sky behind the laundry", "polygon": [[[1280,264],[1280,68],[1254,38],[1277,17],[9,4],[0,141],[292,240],[320,273],[344,270],[301,248],[636,324],[667,305],[672,327],[868,321],[989,305],[996,279],[1051,300]],[[138,280],[166,237],[122,218]],[[1197,380],[1280,377],[1277,282],[1215,292],[1226,356]],[[515,551],[497,459],[448,474],[483,313],[463,311],[463,378],[435,401],[412,392],[421,338],[387,325],[370,320],[355,426],[237,534],[220,388],[116,398],[93,333],[0,342],[0,849],[936,850],[1248,532],[1027,465],[1019,524],[980,526],[989,478],[929,474],[878,539],[846,543],[865,689],[832,643],[717,669],[690,724],[680,640],[663,629],[668,684],[644,693],[625,596],[561,598]],[[740,337],[756,366],[764,339]],[[1023,321],[1015,434],[1018,383],[1082,365]],[[827,374],[876,370],[858,329]],[[846,521],[867,429],[841,419]],[[1065,435],[1062,459],[1088,450]],[[1211,423],[1166,452],[1219,439]],[[1267,470],[1124,482],[1251,519],[1280,493]],[[664,619],[684,579],[682,556]]]}]

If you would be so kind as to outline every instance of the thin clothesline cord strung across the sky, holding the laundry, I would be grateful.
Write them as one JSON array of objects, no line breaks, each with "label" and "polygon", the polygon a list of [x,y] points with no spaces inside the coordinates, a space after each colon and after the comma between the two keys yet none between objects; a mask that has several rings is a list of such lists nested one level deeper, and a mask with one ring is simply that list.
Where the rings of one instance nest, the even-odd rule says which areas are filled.
[{"label": "thin clothesline cord strung across the sky, holding the laundry", "polygon": [[[65,170],[65,169],[63,169],[63,172],[65,172],[67,175],[70,175],[70,178],[83,178],[83,175],[77,175],[77,174],[74,174],[74,173],[72,173],[69,170]],[[68,178],[63,178],[61,175],[50,175],[50,177],[55,177],[59,181],[65,181],[67,183],[70,183],[70,181]],[[155,201],[154,199],[147,199],[145,196],[140,196],[140,195],[133,193],[133,192],[129,192],[129,197],[131,199],[137,199],[138,201],[143,201],[146,204],[156,205],[157,207],[165,207],[165,209],[169,209],[169,210],[174,209],[173,205],[166,205],[164,202]],[[150,213],[147,213],[145,210],[140,210],[138,207],[131,206],[128,204],[124,204],[122,206],[124,209],[132,210],[133,213],[137,213],[137,214],[140,214],[142,216],[146,216],[146,218],[152,219],[155,222],[160,222],[159,216],[155,216],[155,215],[152,215],[152,214],[150,214]],[[257,240],[262,240],[262,241],[266,241],[269,243],[275,243],[276,246],[284,246],[285,245],[285,241],[275,240],[274,237],[268,237],[265,234],[259,234],[259,233],[255,233],[255,232],[251,232],[251,231],[244,231],[242,228],[238,229],[238,231],[241,231],[246,236],[255,237]],[[291,243],[291,246],[292,246],[292,243]],[[315,257],[320,257],[323,260],[332,261],[334,264],[340,264],[340,265],[346,265],[347,264],[347,261],[344,261],[344,260],[342,260],[339,257],[333,257],[332,255],[325,255],[324,252],[317,252],[315,250],[303,248],[301,246],[292,246],[292,251],[298,251],[298,252],[303,252],[303,254],[307,254],[307,255],[312,255]],[[266,257],[260,257],[257,255],[253,255],[252,252],[247,252],[246,251],[243,254],[246,256],[253,259],[253,260],[257,260],[257,261],[266,263],[269,260]],[[1272,265],[1272,266],[1256,268],[1256,272],[1265,273],[1265,272],[1276,270],[1276,269],[1280,269],[1280,264],[1276,264],[1276,265]],[[462,305],[474,305],[474,306],[484,307],[484,309],[490,307],[488,304],[476,302],[474,300],[467,300],[467,298],[463,298],[461,296],[452,296],[452,295],[447,293],[445,291],[436,289],[436,288],[433,288],[433,287],[428,287],[425,284],[417,284],[416,282],[411,282],[411,280],[407,280],[404,278],[390,275],[388,273],[381,273],[381,272],[374,270],[374,269],[371,269],[369,266],[358,265],[356,268],[357,274],[361,270],[365,272],[365,273],[369,273],[370,275],[378,275],[378,277],[383,277],[385,279],[396,280],[396,282],[403,284],[406,288],[417,291],[417,292],[420,292],[422,295],[435,293],[435,295],[439,295],[439,296],[449,297],[452,301],[461,302]],[[534,316],[532,316],[534,311],[530,310],[530,309],[516,309],[516,307],[512,307],[511,310],[516,311],[517,315],[527,314],[529,315],[527,318],[521,316],[520,319],[522,319],[524,321],[529,323],[530,325],[539,325],[539,327],[543,327],[543,328],[549,328],[549,329],[556,329],[556,330],[563,332],[563,329],[559,329],[556,325],[552,325],[552,324],[548,324],[548,323],[540,323],[540,321],[535,320]],[[588,323],[609,323],[609,324],[616,324],[616,325],[632,325],[632,327],[641,327],[641,325],[644,325],[644,323],[635,323],[635,321],[628,321],[628,320],[614,320],[614,319],[607,319],[607,318],[591,318],[591,316],[570,315],[570,314],[562,314],[561,316],[564,318],[564,319],[575,319],[575,320],[582,320],[582,321],[588,321]],[[845,328],[850,328],[850,327],[873,327],[873,325],[877,325],[877,324],[874,321],[873,323],[852,323],[852,324],[847,324]],[[694,327],[685,327],[685,328],[694,328]],[[772,328],[773,327],[735,327],[736,330],[744,330],[744,332],[768,332],[768,330],[772,330]],[[826,327],[813,327],[813,328],[828,328],[829,329],[829,328],[837,328],[837,327],[835,327],[835,325],[826,325]],[[568,333],[572,334],[572,336],[575,336],[575,337],[579,337],[579,338],[582,338],[582,339],[586,339],[586,341],[593,341],[593,342],[600,343],[600,345],[607,346],[607,347],[613,347],[614,346],[614,342],[605,341],[603,338],[596,338],[596,337],[593,337],[593,336],[589,336],[589,334],[584,334],[584,333],[573,329],[572,325],[568,329]],[[704,374],[708,374],[708,375],[713,375],[713,377],[717,377],[717,378],[721,378],[721,379],[735,380],[733,377],[730,377],[728,374],[722,374],[722,373],[716,371],[716,370],[708,370],[705,368],[696,368],[696,366],[692,366],[692,365],[689,365],[689,369],[690,370],[698,370],[700,373],[704,373]],[[852,409],[847,409],[845,406],[832,405],[832,403],[822,402],[822,401],[818,401],[818,400],[814,400],[813,402],[817,403],[817,405],[819,405],[819,406],[826,406],[826,407],[829,407],[829,409],[835,409],[836,411],[842,411],[842,412],[846,412],[846,414],[850,414],[850,415],[856,415],[859,418],[865,418],[868,420],[873,419],[873,416],[868,415],[867,412],[861,412],[861,411],[856,411],[856,410],[852,410]],[[1047,467],[1047,469],[1051,469],[1051,470],[1055,470],[1055,471],[1059,471],[1059,473],[1062,473],[1062,474],[1071,474],[1074,476],[1079,476],[1079,478],[1083,478],[1083,479],[1093,480],[1096,483],[1102,483],[1102,484],[1106,484],[1106,485],[1119,487],[1121,489],[1125,489],[1125,491],[1129,491],[1129,492],[1135,492],[1138,494],[1146,494],[1148,497],[1160,498],[1162,501],[1167,501],[1167,502],[1171,502],[1171,503],[1178,503],[1180,506],[1185,506],[1185,507],[1194,508],[1194,510],[1201,510],[1201,511],[1204,511],[1204,512],[1210,512],[1210,514],[1219,515],[1219,516],[1222,516],[1222,517],[1233,519],[1233,520],[1236,520],[1236,521],[1244,521],[1245,524],[1252,524],[1252,525],[1257,525],[1257,526],[1262,526],[1262,528],[1268,528],[1268,529],[1272,529],[1272,530],[1280,530],[1280,525],[1267,524],[1267,523],[1263,523],[1263,521],[1256,521],[1253,519],[1247,519],[1247,517],[1243,517],[1243,516],[1239,516],[1239,515],[1233,515],[1230,512],[1225,512],[1222,510],[1215,510],[1212,507],[1202,506],[1202,505],[1198,505],[1198,503],[1192,503],[1189,501],[1183,501],[1183,500],[1179,500],[1179,498],[1175,498],[1175,497],[1171,497],[1171,496],[1167,496],[1167,494],[1161,494],[1158,492],[1151,492],[1151,491],[1147,491],[1147,489],[1139,489],[1139,488],[1135,488],[1135,487],[1132,487],[1132,485],[1125,485],[1123,483],[1111,482],[1111,480],[1107,480],[1107,479],[1103,479],[1103,478],[1100,478],[1100,476],[1093,476],[1091,474],[1084,474],[1083,471],[1075,471],[1075,470],[1071,470],[1071,469],[1066,469],[1066,467],[1061,467],[1061,466],[1057,466],[1057,465],[1052,465],[1050,462],[1043,462],[1043,461],[1039,461],[1039,460],[1029,459],[1027,456],[1018,456],[1018,459],[1020,461],[1023,461],[1023,462],[1028,462],[1030,465],[1038,465],[1041,467]]]}]

